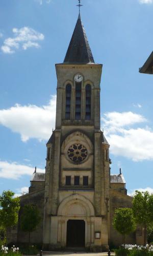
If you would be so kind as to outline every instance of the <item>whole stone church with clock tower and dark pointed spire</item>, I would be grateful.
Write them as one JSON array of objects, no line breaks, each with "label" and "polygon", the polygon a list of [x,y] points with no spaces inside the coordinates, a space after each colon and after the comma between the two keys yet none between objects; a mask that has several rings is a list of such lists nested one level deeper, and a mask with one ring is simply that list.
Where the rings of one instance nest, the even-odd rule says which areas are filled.
[{"label": "whole stone church with clock tower and dark pointed spire", "polygon": [[[45,250],[86,248],[106,251],[120,245],[113,228],[114,210],[131,207],[125,180],[110,174],[109,143],[100,131],[100,79],[103,65],[94,62],[79,15],[65,59],[56,64],[56,127],[47,142],[45,174],[35,172],[24,204],[39,207],[42,220],[32,243]],[[52,113],[50,113],[51,115]],[[27,242],[20,225],[10,242]],[[142,241],[142,230],[127,243]]]}]

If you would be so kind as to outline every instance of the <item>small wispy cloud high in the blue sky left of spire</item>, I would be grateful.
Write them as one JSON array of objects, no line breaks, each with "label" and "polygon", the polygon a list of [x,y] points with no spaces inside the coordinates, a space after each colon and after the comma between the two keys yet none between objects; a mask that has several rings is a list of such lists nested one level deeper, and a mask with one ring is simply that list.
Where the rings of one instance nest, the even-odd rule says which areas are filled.
[{"label": "small wispy cloud high in the blue sky left of spire", "polygon": [[30,47],[39,48],[38,41],[44,39],[43,34],[29,27],[13,28],[12,31],[14,37],[5,39],[4,45],[1,47],[4,53],[14,53],[18,49],[27,50]]}]

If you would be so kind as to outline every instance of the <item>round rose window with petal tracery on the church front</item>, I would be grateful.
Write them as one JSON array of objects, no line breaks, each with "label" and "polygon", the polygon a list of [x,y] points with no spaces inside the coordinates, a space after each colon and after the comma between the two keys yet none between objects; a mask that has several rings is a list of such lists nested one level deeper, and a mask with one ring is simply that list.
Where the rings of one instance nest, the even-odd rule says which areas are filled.
[{"label": "round rose window with petal tracery on the church front", "polygon": [[87,157],[87,148],[82,144],[73,144],[68,148],[68,157],[75,163],[82,162]]}]

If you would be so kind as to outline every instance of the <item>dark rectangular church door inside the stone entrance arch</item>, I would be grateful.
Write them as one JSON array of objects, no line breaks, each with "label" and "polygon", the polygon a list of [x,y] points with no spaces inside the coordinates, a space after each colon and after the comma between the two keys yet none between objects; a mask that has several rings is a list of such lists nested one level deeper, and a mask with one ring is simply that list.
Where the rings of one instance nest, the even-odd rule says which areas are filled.
[{"label": "dark rectangular church door inside the stone entrance arch", "polygon": [[67,247],[85,247],[85,221],[68,220],[67,221]]}]

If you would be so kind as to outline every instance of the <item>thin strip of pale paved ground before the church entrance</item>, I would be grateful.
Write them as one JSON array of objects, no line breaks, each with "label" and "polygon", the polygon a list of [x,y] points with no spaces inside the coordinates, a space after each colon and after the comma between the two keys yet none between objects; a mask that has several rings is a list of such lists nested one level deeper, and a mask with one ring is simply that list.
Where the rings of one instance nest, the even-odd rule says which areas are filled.
[{"label": "thin strip of pale paved ground before the church entrance", "polygon": [[[76,254],[78,254],[79,256],[106,256],[108,255],[108,252],[95,252],[95,253],[91,253],[91,252],[49,252],[49,253],[43,253],[43,255],[45,256],[50,256],[50,255],[59,255],[59,256],[63,256],[63,255],[68,255],[68,256],[76,256]],[[87,255],[88,254],[88,255]],[[111,256],[115,255],[113,252],[111,252]]]}]

